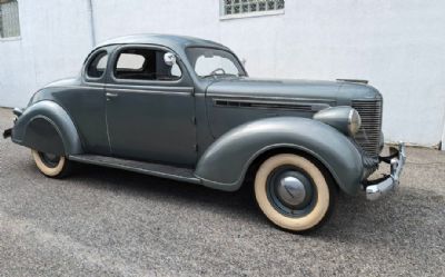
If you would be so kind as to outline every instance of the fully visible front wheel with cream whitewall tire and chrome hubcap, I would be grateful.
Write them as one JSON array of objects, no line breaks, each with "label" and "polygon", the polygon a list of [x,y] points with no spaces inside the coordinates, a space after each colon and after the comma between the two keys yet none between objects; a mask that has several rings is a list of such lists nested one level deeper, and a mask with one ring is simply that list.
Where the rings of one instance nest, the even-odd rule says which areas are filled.
[{"label": "fully visible front wheel with cream whitewall tire and chrome hubcap", "polygon": [[335,187],[314,162],[293,154],[267,159],[255,178],[255,196],[266,217],[290,231],[320,226],[333,209]]}]

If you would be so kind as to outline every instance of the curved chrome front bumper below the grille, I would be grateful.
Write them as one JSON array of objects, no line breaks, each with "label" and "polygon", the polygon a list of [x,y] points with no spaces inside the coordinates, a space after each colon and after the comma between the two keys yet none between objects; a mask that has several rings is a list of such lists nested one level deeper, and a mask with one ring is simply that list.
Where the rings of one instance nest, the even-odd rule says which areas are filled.
[{"label": "curved chrome front bumper below the grille", "polygon": [[366,199],[368,200],[377,200],[398,186],[400,174],[406,161],[405,145],[400,142],[398,149],[392,148],[389,150],[396,151],[398,157],[394,157],[389,161],[390,175],[386,176],[382,181],[366,187]]}]

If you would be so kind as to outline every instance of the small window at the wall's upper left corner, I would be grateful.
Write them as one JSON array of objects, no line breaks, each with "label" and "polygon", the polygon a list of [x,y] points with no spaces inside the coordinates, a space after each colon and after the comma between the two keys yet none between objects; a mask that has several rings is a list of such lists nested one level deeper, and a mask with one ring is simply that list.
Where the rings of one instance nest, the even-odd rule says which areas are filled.
[{"label": "small window at the wall's upper left corner", "polygon": [[17,0],[0,0],[0,38],[20,37]]}]

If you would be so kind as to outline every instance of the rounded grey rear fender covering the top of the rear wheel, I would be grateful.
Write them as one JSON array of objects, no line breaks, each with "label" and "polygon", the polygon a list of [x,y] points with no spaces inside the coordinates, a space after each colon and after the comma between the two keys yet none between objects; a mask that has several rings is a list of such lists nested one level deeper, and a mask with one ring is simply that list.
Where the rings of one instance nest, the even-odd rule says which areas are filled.
[{"label": "rounded grey rear fender covering the top of the rear wheel", "polygon": [[28,107],[12,128],[12,141],[39,151],[57,155],[81,154],[76,126],[67,111],[53,101]]}]

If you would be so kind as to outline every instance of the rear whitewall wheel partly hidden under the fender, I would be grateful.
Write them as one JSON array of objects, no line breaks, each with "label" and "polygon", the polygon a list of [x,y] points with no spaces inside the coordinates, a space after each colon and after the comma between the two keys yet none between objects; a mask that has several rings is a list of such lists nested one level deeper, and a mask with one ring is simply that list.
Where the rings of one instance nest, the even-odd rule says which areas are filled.
[{"label": "rear whitewall wheel partly hidden under the fender", "polygon": [[71,168],[70,161],[65,156],[31,150],[36,166],[47,177],[63,178]]}]

